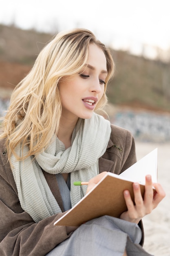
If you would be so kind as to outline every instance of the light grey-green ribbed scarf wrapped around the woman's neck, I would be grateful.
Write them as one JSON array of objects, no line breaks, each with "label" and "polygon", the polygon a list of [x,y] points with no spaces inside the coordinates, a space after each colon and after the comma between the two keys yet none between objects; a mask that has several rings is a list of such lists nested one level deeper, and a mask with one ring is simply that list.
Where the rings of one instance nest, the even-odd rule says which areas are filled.
[{"label": "light grey-green ribbed scarf wrapped around the woman's neck", "polygon": [[[42,153],[17,161],[11,156],[13,177],[18,190],[22,209],[29,213],[35,222],[60,213],[42,170],[47,173],[71,173],[72,207],[85,195],[86,186],[74,186],[74,181],[88,181],[99,173],[98,159],[106,151],[110,138],[110,122],[93,114],[91,119],[79,119],[72,135],[72,146],[64,144],[53,136],[51,144]],[[22,155],[21,145],[15,149]],[[28,152],[24,147],[23,154]]]}]

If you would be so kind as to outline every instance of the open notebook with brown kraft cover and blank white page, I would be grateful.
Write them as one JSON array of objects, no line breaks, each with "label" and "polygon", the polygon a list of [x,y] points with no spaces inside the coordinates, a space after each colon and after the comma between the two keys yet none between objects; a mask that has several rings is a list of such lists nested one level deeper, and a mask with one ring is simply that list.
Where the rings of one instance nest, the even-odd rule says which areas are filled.
[{"label": "open notebook with brown kraft cover and blank white page", "polygon": [[132,183],[139,182],[144,195],[145,176],[152,175],[157,182],[157,148],[120,175],[107,173],[72,209],[57,220],[54,225],[80,226],[82,223],[109,215],[119,217],[127,210],[123,191],[128,189],[133,197]]}]

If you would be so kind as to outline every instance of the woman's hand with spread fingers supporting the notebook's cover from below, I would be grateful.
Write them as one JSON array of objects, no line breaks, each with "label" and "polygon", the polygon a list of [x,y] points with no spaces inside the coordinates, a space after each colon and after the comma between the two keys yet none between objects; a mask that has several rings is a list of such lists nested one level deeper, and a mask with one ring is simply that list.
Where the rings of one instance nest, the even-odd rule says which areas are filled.
[{"label": "woman's hand with spread fingers supporting the notebook's cover from below", "polygon": [[[155,187],[155,192],[153,191],[152,186]],[[129,191],[124,191],[124,198],[128,211],[122,213],[120,218],[135,223],[138,223],[141,218],[151,213],[151,211],[157,207],[159,202],[161,202],[166,195],[159,183],[152,184],[152,178],[150,175],[146,175],[144,199],[141,196],[139,183],[133,183],[133,191],[135,196],[135,205],[132,202]]]}]

